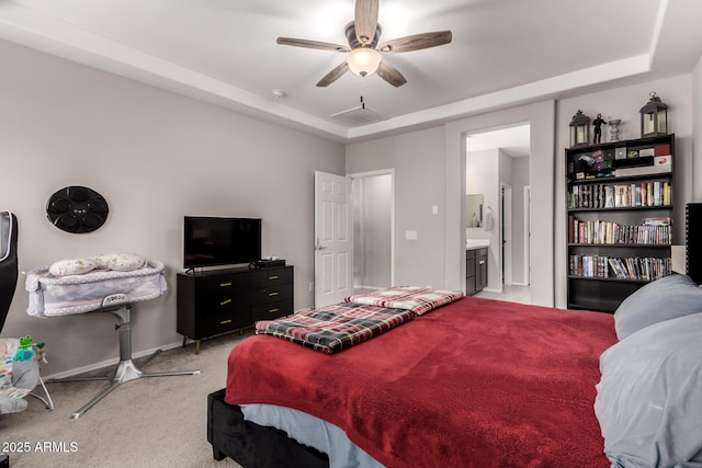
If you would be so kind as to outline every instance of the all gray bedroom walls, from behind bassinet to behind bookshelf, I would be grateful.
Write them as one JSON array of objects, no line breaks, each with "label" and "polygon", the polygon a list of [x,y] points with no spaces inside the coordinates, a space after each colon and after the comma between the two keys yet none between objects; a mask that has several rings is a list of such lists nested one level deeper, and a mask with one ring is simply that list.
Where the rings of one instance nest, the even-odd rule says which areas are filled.
[{"label": "all gray bedroom walls, from behind bassinet to behind bookshelf", "polygon": [[[344,148],[338,144],[9,43],[0,42],[0,209],[20,218],[20,267],[115,250],[163,261],[170,289],[135,308],[135,352],[180,339],[174,277],[182,270],[184,214],[262,217],[263,254],[295,265],[296,307],[313,303],[307,285],[314,277],[315,170],[343,174],[395,168],[395,283],[458,289],[465,279],[465,135],[529,123],[532,298],[557,307],[565,304],[565,189],[556,174],[564,172],[568,123],[578,109],[623,118],[622,138],[636,138],[638,109],[655,90],[671,105],[670,129],[678,136],[676,203],[702,202],[702,184],[693,183],[702,178],[702,152],[693,145],[702,140],[700,64],[692,76],[351,144],[344,168]],[[111,215],[100,230],[70,236],[48,224],[44,207],[54,191],[79,184],[101,192]],[[678,236],[682,213],[676,215]],[[416,230],[418,239],[406,240],[407,230]],[[29,333],[46,341],[46,375],[116,356],[112,318],[35,319],[26,316],[26,303],[20,284],[3,335]]]}]

